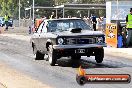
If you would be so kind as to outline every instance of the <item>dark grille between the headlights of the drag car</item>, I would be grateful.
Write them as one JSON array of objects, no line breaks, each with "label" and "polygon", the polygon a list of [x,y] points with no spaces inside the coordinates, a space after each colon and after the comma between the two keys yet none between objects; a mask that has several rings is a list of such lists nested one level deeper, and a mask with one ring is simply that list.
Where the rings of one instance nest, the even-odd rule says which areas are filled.
[{"label": "dark grille between the headlights of the drag car", "polygon": [[93,44],[96,42],[95,38],[68,38],[66,44]]}]

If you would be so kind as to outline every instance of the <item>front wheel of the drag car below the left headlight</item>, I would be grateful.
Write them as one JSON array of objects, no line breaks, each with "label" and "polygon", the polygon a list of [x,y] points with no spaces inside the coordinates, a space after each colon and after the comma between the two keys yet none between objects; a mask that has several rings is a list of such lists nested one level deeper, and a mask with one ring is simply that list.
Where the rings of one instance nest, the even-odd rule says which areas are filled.
[{"label": "front wheel of the drag car below the left headlight", "polygon": [[48,47],[48,60],[51,66],[55,66],[57,61],[57,56],[54,49],[52,48],[52,45],[49,45]]}]

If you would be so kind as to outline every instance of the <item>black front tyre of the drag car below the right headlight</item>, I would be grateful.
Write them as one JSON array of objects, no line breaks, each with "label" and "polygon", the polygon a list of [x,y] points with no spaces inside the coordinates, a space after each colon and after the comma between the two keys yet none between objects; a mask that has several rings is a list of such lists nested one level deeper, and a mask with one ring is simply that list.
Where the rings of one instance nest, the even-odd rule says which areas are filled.
[{"label": "black front tyre of the drag car below the right headlight", "polygon": [[96,62],[97,63],[102,63],[103,58],[104,58],[104,49],[103,48],[97,49],[96,52],[95,52]]}]

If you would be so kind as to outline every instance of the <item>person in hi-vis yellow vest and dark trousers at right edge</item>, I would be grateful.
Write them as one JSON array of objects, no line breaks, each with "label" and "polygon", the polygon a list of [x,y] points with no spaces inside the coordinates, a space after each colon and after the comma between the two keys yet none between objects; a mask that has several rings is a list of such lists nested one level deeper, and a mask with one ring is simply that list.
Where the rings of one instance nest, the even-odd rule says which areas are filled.
[{"label": "person in hi-vis yellow vest and dark trousers at right edge", "polygon": [[128,30],[127,47],[132,46],[132,8],[130,13],[126,16],[126,28]]}]

